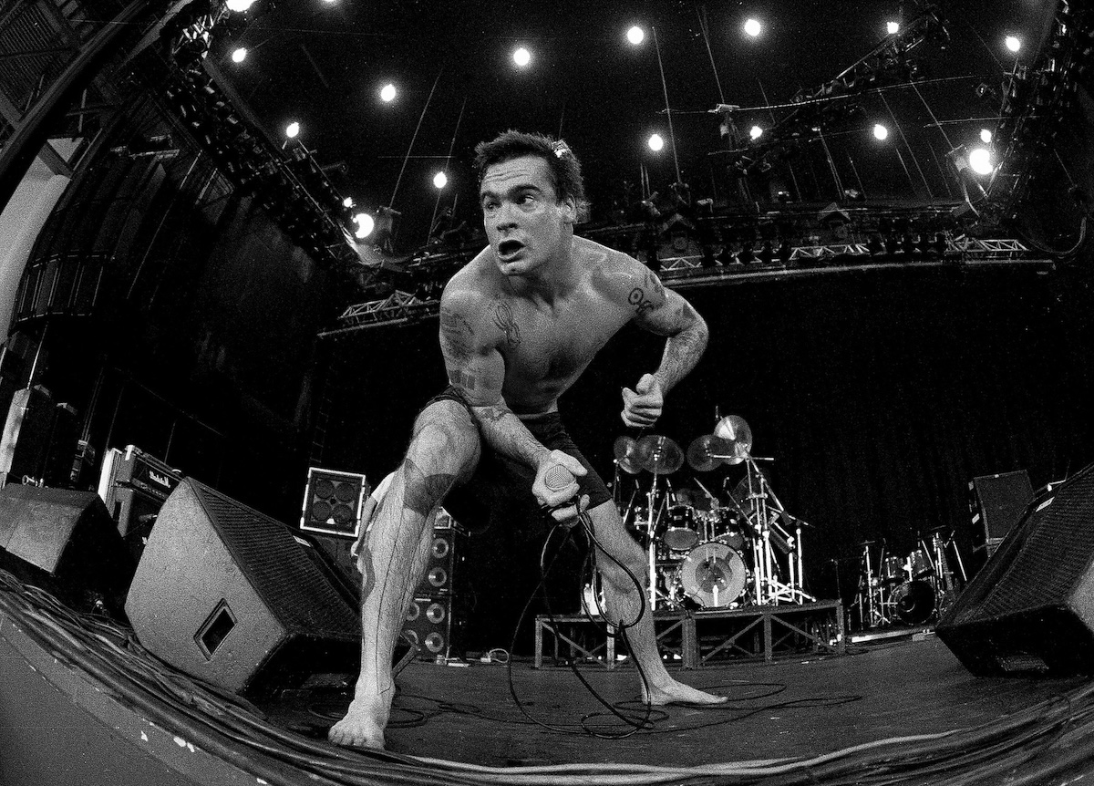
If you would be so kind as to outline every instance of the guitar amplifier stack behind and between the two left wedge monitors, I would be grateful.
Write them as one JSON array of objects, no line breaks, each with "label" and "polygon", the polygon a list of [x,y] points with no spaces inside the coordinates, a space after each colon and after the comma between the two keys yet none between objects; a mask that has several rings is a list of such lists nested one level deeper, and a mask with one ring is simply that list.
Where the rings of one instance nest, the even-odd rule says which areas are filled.
[{"label": "guitar amplifier stack behind and between the two left wedge monitors", "polygon": [[98,496],[136,559],[144,551],[160,508],[182,479],[182,472],[132,444],[124,451],[112,448],[103,456]]}]

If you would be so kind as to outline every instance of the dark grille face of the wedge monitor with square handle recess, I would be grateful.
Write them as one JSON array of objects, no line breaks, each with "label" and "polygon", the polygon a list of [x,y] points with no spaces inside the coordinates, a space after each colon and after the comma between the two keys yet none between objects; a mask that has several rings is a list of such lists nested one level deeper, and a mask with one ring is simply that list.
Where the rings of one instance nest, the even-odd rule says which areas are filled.
[{"label": "dark grille face of the wedge monitor with square handle recess", "polygon": [[291,633],[344,636],[360,622],[280,521],[190,482],[235,564]]}]

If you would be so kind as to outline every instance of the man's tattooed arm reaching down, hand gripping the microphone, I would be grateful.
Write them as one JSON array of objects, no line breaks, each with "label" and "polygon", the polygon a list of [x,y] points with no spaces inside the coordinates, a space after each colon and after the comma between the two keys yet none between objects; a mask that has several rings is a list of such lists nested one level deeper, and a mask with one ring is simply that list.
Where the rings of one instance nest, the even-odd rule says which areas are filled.
[{"label": "man's tattooed arm reaching down, hand gripping the microphone", "polygon": [[555,507],[571,499],[578,484],[548,488],[544,482],[547,470],[561,464],[574,476],[586,471],[573,456],[545,448],[505,404],[501,393],[505,361],[498,349],[503,336],[493,321],[484,319],[489,305],[477,292],[445,290],[441,299],[441,351],[449,381],[470,404],[482,439],[498,452],[535,467],[533,494],[542,505]]}]

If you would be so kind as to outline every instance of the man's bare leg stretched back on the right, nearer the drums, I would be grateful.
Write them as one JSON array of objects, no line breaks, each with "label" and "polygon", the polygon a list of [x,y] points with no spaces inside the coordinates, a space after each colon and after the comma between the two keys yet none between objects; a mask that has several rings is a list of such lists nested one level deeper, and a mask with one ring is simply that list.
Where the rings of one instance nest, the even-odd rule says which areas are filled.
[{"label": "man's bare leg stretched back on the right, nearer the drums", "polygon": [[[626,528],[614,502],[604,502],[589,511],[589,518],[593,522],[593,532],[601,545],[616,559],[627,566],[639,582],[644,587],[648,583],[647,557],[641,547],[635,542]],[[649,596],[644,605],[642,596],[633,579],[627,575],[610,557],[603,552],[596,555],[596,567],[600,569],[601,578],[604,580],[604,600],[607,605],[608,621],[618,624],[622,621],[631,625],[635,620],[638,624],[627,628],[627,641],[630,644],[631,652],[638,664],[645,674],[649,683],[649,694],[647,686],[642,685],[642,700],[649,700],[651,704],[721,704],[728,701],[725,696],[715,696],[705,693],[683,682],[677,682],[668,675],[661,654],[657,651],[657,640],[653,628],[653,611],[650,608]],[[648,591],[648,590],[647,590]],[[645,613],[639,619],[642,609]]]}]

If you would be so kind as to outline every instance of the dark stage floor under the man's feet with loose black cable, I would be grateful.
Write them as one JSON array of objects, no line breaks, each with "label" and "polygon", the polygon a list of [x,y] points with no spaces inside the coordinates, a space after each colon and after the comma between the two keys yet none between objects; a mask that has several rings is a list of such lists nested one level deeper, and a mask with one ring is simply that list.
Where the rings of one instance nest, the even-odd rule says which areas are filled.
[{"label": "dark stage floor under the man's feet with loose black cable", "polygon": [[[888,738],[967,729],[1076,687],[1070,679],[973,677],[933,634],[919,640],[851,646],[845,656],[724,661],[671,669],[683,682],[729,696],[717,708],[659,708],[652,728],[626,739],[598,739],[627,729],[610,717],[568,667],[466,667],[416,661],[397,681],[388,749],[492,766],[563,763],[697,764],[811,758]],[[582,675],[607,702],[643,714],[638,672],[589,663]],[[349,696],[287,697],[264,705],[278,725],[321,736],[341,716]],[[329,718],[329,720],[327,719]]]}]

